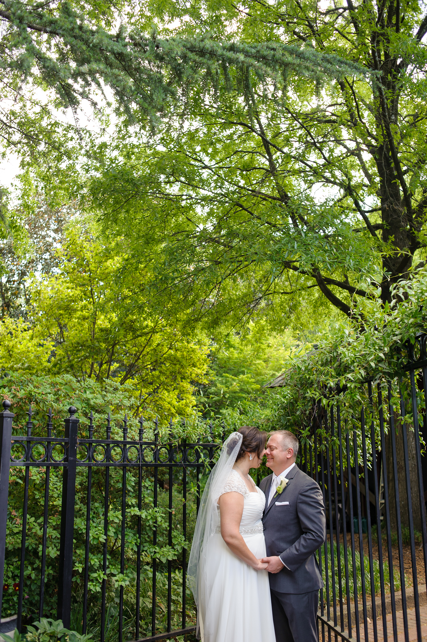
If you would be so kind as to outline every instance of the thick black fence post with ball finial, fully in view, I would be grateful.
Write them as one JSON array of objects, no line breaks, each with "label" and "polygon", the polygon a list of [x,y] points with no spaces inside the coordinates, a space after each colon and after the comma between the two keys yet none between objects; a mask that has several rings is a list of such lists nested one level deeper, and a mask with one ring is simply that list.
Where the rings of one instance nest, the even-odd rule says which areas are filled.
[{"label": "thick black fence post with ball finial, fully in view", "polygon": [[65,438],[68,439],[62,477],[62,510],[60,534],[60,559],[58,577],[58,605],[56,618],[65,629],[71,623],[72,553],[74,535],[74,502],[76,496],[77,438],[79,420],[74,417],[77,408],[68,409],[65,419]]}]

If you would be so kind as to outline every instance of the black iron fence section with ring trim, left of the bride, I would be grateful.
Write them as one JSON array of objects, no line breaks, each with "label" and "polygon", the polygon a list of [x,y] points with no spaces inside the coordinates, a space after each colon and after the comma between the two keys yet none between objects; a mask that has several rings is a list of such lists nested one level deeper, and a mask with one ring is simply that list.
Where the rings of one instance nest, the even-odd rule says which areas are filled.
[{"label": "black iron fence section with ring trim, left of the bride", "polygon": [[79,429],[71,407],[63,429],[54,429],[49,412],[44,434],[35,436],[29,408],[26,434],[13,435],[10,402],[3,408],[2,616],[17,614],[18,630],[42,616],[57,618],[101,642],[194,631],[187,522],[195,521],[201,471],[217,448],[209,429],[196,443],[172,432],[165,443],[157,421],[147,440],[140,420],[130,439],[125,417],[117,438],[108,415],[101,437],[92,415]]}]

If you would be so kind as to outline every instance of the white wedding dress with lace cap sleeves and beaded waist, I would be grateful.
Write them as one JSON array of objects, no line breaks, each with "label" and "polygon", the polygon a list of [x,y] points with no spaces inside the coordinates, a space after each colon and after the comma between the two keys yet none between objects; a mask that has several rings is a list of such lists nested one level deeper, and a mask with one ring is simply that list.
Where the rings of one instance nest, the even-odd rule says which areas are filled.
[{"label": "white wedding dress with lace cap sleeves and beaded waist", "polygon": [[[231,470],[224,492],[244,497],[240,533],[256,558],[265,557],[262,513],[265,495],[249,492],[239,473]],[[219,519],[219,507],[218,519]],[[217,522],[219,523],[219,522]],[[275,642],[267,571],[255,571],[231,552],[220,526],[208,540],[200,559],[199,627],[202,642]],[[200,577],[200,576],[199,576]]]}]

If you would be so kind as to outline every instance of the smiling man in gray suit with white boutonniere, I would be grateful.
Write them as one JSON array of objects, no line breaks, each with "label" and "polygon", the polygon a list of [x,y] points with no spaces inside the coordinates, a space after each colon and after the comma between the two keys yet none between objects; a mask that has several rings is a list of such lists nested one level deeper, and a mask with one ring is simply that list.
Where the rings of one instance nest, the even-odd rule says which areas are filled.
[{"label": "smiling man in gray suit with white boutonniere", "polygon": [[317,642],[316,615],[323,586],[315,551],[326,537],[322,492],[296,465],[298,440],[287,430],[267,442],[272,474],[265,494],[265,547],[276,642]]}]

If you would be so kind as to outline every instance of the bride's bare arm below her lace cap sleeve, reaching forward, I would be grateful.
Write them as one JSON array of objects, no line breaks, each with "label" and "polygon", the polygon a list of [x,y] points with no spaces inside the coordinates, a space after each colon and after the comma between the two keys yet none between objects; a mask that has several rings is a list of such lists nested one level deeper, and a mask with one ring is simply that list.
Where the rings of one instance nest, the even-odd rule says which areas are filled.
[{"label": "bride's bare arm below her lace cap sleeve, reaching forward", "polygon": [[255,568],[256,571],[260,571],[267,568],[267,564],[262,564],[260,560],[256,559],[239,533],[243,504],[244,498],[239,492],[226,492],[219,498],[222,539],[237,557]]}]

